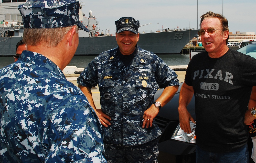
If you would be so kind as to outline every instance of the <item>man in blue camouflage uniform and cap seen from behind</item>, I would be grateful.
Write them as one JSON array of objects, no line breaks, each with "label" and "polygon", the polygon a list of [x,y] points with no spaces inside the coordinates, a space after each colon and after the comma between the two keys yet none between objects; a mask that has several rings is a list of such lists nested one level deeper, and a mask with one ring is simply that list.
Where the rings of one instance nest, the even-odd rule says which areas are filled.
[{"label": "man in blue camouflage uniform and cap seen from behind", "polygon": [[18,61],[0,70],[0,162],[106,162],[101,123],[62,70],[78,46],[79,2],[28,0]]}]

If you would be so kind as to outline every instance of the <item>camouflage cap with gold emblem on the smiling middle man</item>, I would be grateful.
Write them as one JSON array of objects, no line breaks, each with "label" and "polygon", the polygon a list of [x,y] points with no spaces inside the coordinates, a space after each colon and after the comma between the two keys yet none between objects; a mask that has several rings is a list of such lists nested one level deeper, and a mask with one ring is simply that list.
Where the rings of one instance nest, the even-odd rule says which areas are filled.
[{"label": "camouflage cap with gold emblem on the smiling middle man", "polygon": [[140,21],[134,20],[133,18],[120,18],[115,21],[116,33],[122,31],[131,31],[135,34],[138,33],[140,27]]}]

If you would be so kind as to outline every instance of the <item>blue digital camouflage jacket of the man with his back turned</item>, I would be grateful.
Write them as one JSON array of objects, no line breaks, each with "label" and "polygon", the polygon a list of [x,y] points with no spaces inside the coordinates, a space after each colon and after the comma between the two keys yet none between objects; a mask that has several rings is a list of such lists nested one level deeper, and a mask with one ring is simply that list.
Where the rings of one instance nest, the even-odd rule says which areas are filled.
[{"label": "blue digital camouflage jacket of the man with his back turned", "polygon": [[0,95],[0,162],[106,162],[97,115],[45,56],[1,69]]}]

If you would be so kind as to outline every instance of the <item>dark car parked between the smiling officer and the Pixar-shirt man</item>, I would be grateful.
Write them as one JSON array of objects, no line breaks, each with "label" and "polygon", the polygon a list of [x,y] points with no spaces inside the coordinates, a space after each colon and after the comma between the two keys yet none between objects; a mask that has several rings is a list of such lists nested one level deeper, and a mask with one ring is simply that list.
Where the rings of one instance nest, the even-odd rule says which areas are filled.
[{"label": "dark car parked between the smiling officer and the Pixar-shirt man", "polygon": [[[158,127],[162,131],[159,137],[159,156],[158,162],[175,162],[175,163],[193,163],[195,162],[195,139],[194,135],[187,135],[179,127],[178,101],[179,92],[183,82],[180,83],[179,89],[169,103],[161,108],[155,117]],[[162,94],[164,89],[158,90],[155,94],[155,100]],[[187,107],[191,116],[195,117],[195,98],[191,99]],[[194,124],[190,123],[191,129]]]}]

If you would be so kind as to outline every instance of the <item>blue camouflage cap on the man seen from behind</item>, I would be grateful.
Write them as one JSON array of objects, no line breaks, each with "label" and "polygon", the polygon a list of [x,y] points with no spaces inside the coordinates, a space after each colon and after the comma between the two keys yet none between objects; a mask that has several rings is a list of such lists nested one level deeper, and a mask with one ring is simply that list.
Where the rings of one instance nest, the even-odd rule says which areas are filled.
[{"label": "blue camouflage cap on the man seen from behind", "polygon": [[76,0],[28,0],[19,5],[24,28],[57,28],[78,25],[89,30],[79,21],[79,2]]}]

